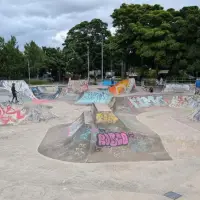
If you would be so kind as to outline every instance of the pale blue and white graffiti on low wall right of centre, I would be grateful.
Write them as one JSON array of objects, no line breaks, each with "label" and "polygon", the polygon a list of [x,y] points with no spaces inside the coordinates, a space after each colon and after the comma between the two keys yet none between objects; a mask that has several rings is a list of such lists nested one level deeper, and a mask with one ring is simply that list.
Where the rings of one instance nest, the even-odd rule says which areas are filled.
[{"label": "pale blue and white graffiti on low wall right of centre", "polygon": [[128,99],[135,108],[167,105],[162,96],[128,97]]}]

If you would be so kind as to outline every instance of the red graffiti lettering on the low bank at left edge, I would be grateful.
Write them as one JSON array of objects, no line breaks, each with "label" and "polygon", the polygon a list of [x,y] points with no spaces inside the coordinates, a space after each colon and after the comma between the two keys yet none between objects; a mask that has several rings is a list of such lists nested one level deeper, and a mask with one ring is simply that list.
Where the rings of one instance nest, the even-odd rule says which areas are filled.
[{"label": "red graffiti lettering on the low bank at left edge", "polygon": [[20,110],[15,110],[14,108],[12,108],[11,106],[7,106],[6,108],[3,108],[0,106],[0,121],[6,125],[8,124],[10,121],[15,122],[17,118],[19,119],[23,119],[25,116],[21,114]]}]

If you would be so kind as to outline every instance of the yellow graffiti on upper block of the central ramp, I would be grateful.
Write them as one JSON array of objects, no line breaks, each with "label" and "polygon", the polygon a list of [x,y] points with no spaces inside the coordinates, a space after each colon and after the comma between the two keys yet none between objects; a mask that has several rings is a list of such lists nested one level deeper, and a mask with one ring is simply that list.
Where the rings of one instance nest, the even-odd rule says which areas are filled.
[{"label": "yellow graffiti on upper block of the central ramp", "polygon": [[100,112],[96,114],[96,123],[115,124],[118,118],[112,112]]}]

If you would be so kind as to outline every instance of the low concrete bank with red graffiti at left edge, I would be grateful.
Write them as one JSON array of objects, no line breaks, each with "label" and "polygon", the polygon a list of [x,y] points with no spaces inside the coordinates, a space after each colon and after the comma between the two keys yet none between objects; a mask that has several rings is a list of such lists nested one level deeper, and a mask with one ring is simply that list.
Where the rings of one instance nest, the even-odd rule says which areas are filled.
[{"label": "low concrete bank with red graffiti at left edge", "polygon": [[51,107],[46,105],[0,104],[0,126],[38,123],[55,117],[51,112]]}]

